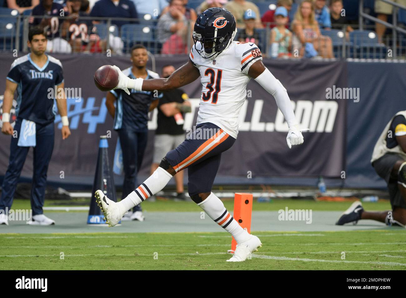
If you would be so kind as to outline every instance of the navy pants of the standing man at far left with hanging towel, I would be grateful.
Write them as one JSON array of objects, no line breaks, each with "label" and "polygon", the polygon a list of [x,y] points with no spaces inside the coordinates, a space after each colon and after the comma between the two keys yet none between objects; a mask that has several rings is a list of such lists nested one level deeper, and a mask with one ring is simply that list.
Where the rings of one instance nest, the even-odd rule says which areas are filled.
[{"label": "navy pants of the standing man at far left with hanging towel", "polygon": [[[11,137],[9,167],[7,167],[3,180],[0,210],[6,210],[6,207],[10,210],[13,204],[17,181],[30,149],[30,147],[17,146],[21,123],[22,120],[17,118],[14,126],[14,131],[17,131],[17,137]],[[42,206],[44,205],[48,165],[51,160],[52,150],[54,150],[54,122],[46,125],[36,124],[35,129],[36,146],[34,147],[34,170],[31,187],[32,215],[43,213]]]}]

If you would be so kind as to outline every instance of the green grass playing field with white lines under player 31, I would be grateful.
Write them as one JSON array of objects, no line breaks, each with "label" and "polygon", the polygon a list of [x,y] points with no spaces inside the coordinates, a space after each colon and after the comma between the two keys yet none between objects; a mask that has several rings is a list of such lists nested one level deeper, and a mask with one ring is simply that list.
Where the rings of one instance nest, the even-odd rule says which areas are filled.
[{"label": "green grass playing field with white lines under player 31", "polygon": [[[232,200],[224,200],[233,209]],[[285,206],[343,211],[350,202],[273,200],[254,202],[253,210]],[[52,202],[47,203],[52,206]],[[389,202],[365,203],[367,210],[388,210]],[[29,208],[15,200],[13,209]],[[145,202],[154,211],[197,211],[193,202]],[[48,213],[48,212],[46,212]],[[384,226],[383,226],[384,227]],[[0,230],[1,231],[1,230]],[[228,233],[0,234],[2,270],[405,270],[406,231],[399,228],[339,232],[252,232],[263,247],[252,259],[228,263]]]}]

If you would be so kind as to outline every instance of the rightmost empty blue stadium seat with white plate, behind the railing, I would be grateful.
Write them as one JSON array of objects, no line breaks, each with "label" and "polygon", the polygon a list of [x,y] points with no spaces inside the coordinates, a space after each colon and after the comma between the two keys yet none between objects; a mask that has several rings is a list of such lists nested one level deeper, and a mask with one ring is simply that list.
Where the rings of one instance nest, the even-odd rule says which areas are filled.
[{"label": "rightmost empty blue stadium seat with white plate, behind the railing", "polygon": [[386,46],[378,43],[378,37],[374,31],[354,30],[350,32],[350,42],[357,53],[355,58],[386,58],[387,56]]}]

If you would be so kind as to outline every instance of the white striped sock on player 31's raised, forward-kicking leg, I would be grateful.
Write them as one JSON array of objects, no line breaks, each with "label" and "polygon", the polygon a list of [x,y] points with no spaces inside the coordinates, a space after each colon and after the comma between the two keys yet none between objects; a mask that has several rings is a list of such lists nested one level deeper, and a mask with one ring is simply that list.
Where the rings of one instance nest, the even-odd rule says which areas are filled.
[{"label": "white striped sock on player 31's raised, forward-kicking leg", "polygon": [[137,206],[145,199],[151,197],[151,195],[155,195],[155,193],[161,191],[171,178],[171,174],[166,172],[162,167],[158,167],[143,184],[119,202],[120,208],[128,211],[134,206]]}]

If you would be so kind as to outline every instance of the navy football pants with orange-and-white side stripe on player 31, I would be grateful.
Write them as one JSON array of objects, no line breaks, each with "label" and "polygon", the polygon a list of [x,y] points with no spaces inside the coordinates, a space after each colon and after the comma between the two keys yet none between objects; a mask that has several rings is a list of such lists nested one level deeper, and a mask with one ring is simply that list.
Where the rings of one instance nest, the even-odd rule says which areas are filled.
[{"label": "navy football pants with orange-and-white side stripe on player 31", "polygon": [[166,153],[166,160],[179,172],[188,168],[190,196],[212,191],[220,166],[221,153],[233,146],[235,139],[213,123],[201,123],[175,149]]}]

